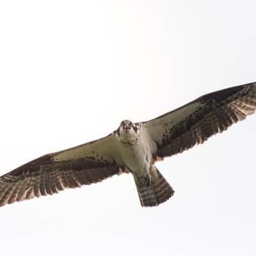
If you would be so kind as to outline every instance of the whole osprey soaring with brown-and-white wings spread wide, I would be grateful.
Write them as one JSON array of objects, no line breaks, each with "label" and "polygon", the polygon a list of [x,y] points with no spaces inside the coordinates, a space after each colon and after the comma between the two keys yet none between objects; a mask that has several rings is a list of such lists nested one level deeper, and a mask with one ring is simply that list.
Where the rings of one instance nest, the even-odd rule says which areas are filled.
[{"label": "whole osprey soaring with brown-and-white wings spread wide", "polygon": [[47,154],[0,177],[0,206],[52,195],[131,173],[142,206],[155,206],[174,191],[154,165],[244,120],[256,109],[256,83],[199,97],[147,122],[121,122],[99,140]]}]

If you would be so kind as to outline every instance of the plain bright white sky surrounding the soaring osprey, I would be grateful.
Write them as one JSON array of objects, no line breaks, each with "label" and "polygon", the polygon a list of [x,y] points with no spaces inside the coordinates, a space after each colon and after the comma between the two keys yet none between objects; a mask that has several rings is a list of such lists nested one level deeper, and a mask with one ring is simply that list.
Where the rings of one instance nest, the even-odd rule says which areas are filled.
[{"label": "plain bright white sky surrounding the soaring osprey", "polygon": [[[256,81],[256,3],[0,2],[0,174]],[[255,122],[157,163],[175,189],[140,206],[132,175],[0,209],[1,255],[256,255]]]}]

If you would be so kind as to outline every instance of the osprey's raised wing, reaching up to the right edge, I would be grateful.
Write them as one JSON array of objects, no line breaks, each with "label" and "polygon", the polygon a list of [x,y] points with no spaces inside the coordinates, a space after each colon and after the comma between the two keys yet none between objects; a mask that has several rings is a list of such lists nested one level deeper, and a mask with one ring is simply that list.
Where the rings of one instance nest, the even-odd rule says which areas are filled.
[{"label": "osprey's raised wing, reaching up to the right edge", "polygon": [[143,123],[156,141],[154,156],[166,157],[204,143],[209,137],[244,120],[256,109],[256,83],[212,92],[181,108]]}]

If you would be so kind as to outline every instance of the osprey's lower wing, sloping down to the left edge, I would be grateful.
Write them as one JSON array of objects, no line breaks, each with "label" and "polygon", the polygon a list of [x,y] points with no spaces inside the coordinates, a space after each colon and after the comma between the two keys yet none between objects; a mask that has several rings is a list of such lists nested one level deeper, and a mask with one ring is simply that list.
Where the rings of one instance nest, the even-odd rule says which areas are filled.
[{"label": "osprey's lower wing, sloping down to the left edge", "polygon": [[77,188],[120,172],[113,136],[47,154],[0,177],[0,206]]}]

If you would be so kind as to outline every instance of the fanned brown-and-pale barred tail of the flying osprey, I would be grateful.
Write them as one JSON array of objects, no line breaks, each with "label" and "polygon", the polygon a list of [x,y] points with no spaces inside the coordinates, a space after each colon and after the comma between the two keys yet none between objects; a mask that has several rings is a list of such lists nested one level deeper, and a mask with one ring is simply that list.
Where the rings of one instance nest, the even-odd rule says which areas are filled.
[{"label": "fanned brown-and-pale barred tail of the flying osprey", "polygon": [[154,175],[154,182],[150,186],[145,186],[134,177],[140,204],[143,207],[157,206],[173,196],[173,189],[170,184],[164,179],[163,175],[157,170]]}]

